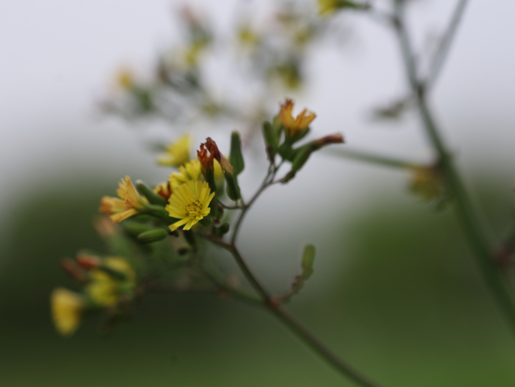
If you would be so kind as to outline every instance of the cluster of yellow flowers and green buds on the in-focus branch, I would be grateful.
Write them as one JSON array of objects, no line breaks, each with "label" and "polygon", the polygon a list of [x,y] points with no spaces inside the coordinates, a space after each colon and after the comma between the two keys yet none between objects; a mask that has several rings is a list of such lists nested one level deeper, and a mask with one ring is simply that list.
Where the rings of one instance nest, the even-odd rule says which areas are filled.
[{"label": "cluster of yellow flowers and green buds on the in-focus branch", "polygon": [[[261,190],[293,179],[322,146],[343,142],[341,134],[332,134],[297,145],[307,136],[316,115],[304,109],[294,117],[293,109],[294,103],[287,99],[272,124],[263,123],[269,174]],[[117,197],[101,198],[99,212],[108,215],[111,222],[103,218],[96,227],[111,253],[85,251],[75,259],[63,260],[64,270],[81,284],[82,291],[58,288],[52,293],[52,315],[59,333],[73,334],[86,312],[107,310],[108,323],[124,316],[135,298],[156,287],[162,273],[167,273],[168,281],[179,272],[182,277],[190,276],[192,286],[207,276],[198,263],[198,237],[223,241],[232,219],[226,210],[247,210],[250,204],[245,203],[238,183],[245,162],[236,131],[231,134],[228,157],[208,137],[199,145],[197,158],[190,159],[190,143],[191,138],[183,136],[159,156],[158,164],[176,168],[166,181],[147,187],[142,181],[133,184],[126,176],[118,183]],[[281,158],[279,163],[277,157]],[[275,179],[285,162],[290,164],[289,172]],[[228,200],[233,204],[224,204]],[[220,285],[209,276],[205,279]],[[302,283],[297,282],[295,292]]]}]

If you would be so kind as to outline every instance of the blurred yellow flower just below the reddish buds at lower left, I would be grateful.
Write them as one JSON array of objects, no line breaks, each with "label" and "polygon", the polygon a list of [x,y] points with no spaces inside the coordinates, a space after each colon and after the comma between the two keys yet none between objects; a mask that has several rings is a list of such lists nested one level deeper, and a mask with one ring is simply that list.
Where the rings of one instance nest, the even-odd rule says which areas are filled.
[{"label": "blurred yellow flower just below the reddish buds at lower left", "polygon": [[110,307],[118,302],[119,295],[132,292],[136,274],[132,266],[120,257],[108,257],[102,261],[102,266],[123,274],[125,279],[116,279],[104,270],[94,269],[85,291],[96,305]]}]

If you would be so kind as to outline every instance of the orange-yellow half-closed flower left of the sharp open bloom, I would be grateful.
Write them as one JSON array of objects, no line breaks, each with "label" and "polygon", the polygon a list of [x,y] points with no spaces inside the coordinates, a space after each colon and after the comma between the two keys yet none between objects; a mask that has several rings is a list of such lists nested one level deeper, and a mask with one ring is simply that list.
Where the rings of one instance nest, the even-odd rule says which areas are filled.
[{"label": "orange-yellow half-closed flower left of the sharp open bloom", "polygon": [[102,214],[110,215],[113,222],[122,222],[130,216],[139,214],[145,208],[148,200],[140,196],[132,185],[129,176],[125,176],[118,183],[116,194],[120,197],[102,196],[100,200],[100,211]]}]

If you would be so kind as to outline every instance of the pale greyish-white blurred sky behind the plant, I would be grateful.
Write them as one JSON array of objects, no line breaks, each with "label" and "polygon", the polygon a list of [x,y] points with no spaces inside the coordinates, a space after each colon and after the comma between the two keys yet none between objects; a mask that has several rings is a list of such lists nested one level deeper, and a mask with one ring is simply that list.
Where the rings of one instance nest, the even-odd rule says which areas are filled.
[{"label": "pale greyish-white blurred sky behind the plant", "polygon": [[[101,116],[96,103],[109,92],[119,68],[130,65],[145,72],[156,54],[177,40],[174,13],[182,5],[204,10],[215,27],[223,30],[234,24],[239,3],[271,4],[237,0],[3,2],[0,211],[7,211],[14,197],[34,194],[45,182],[68,175],[75,180],[91,179],[96,173],[105,176],[102,170],[107,169],[116,178],[130,174],[152,182],[164,179],[167,172],[153,165],[153,156],[142,146],[149,130],[161,130],[163,125],[132,128],[117,117]],[[386,1],[378,3],[388,6]],[[413,1],[410,24],[420,49],[427,36],[448,23],[454,3]],[[515,181],[513,14],[513,2],[472,0],[432,95],[438,120],[460,165],[505,174],[507,188]],[[341,47],[313,50],[308,66],[311,83],[297,97],[298,108],[307,106],[317,113],[313,124],[317,134],[344,132],[347,146],[430,159],[417,117],[408,115],[401,124],[370,120],[371,108],[391,102],[406,90],[391,32],[361,14],[339,17],[348,24],[351,37]],[[249,165],[248,170],[258,168]],[[254,175],[246,176],[243,183],[252,186]],[[364,194],[401,192],[405,184],[403,174],[319,155],[287,187],[265,195],[256,206],[261,211],[249,215],[246,228],[261,227],[252,217],[264,220],[278,210],[285,215],[278,217],[278,229],[302,221],[306,213],[300,209],[314,200],[321,204],[314,215],[322,220],[335,217],[334,207],[326,203],[337,200],[350,210],[362,203],[358,198]],[[112,193],[115,186],[113,180]],[[244,187],[244,192],[250,190]]]}]

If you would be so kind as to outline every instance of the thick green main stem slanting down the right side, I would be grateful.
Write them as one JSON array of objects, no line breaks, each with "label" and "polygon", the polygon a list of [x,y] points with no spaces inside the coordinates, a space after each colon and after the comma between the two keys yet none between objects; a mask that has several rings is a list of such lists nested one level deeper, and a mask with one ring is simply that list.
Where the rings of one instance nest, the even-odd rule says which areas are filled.
[{"label": "thick green main stem slanting down the right side", "polygon": [[439,157],[440,165],[445,174],[445,179],[449,184],[455,198],[455,208],[461,226],[464,229],[471,247],[474,250],[474,256],[483,274],[483,278],[489,285],[490,290],[501,307],[505,317],[510,323],[510,327],[515,330],[515,305],[513,297],[507,288],[503,277],[496,267],[490,244],[485,237],[479,218],[474,210],[472,201],[469,197],[465,184],[463,183],[459,172],[457,171],[451,153],[447,145],[445,145],[439,128],[433,118],[430,108],[425,98],[425,89],[417,77],[415,61],[413,59],[413,49],[408,38],[403,12],[403,0],[396,0],[396,27],[397,36],[403,53],[404,64],[408,75],[408,81],[417,95],[418,110],[420,113],[423,127],[430,138]]}]

